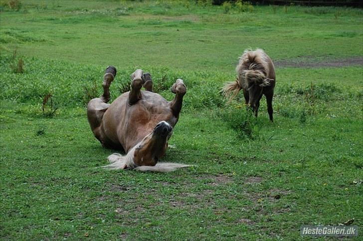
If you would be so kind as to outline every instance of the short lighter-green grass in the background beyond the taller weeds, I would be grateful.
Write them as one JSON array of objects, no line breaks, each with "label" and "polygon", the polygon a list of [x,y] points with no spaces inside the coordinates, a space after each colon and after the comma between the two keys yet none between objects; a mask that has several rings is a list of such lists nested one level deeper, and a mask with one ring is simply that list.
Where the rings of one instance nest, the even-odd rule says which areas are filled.
[{"label": "short lighter-green grass in the background beyond the taller weeds", "polygon": [[1,49],[16,46],[27,56],[83,64],[228,73],[246,48],[262,47],[274,60],[363,54],[361,9],[294,6],[285,13],[283,6],[255,6],[253,12],[224,14],[221,7],[186,3],[24,1],[19,11],[3,6]]}]

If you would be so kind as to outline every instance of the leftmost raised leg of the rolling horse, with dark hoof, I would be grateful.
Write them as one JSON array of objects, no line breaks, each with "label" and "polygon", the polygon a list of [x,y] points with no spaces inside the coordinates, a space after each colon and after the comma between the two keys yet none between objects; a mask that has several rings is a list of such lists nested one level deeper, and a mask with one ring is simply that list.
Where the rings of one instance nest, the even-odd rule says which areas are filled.
[{"label": "leftmost raised leg of the rolling horse, with dark hoof", "polygon": [[99,98],[91,99],[87,104],[87,119],[90,124],[93,135],[102,143],[102,133],[100,130],[101,121],[106,110],[110,106],[107,102],[110,100],[110,84],[115,79],[116,68],[109,66],[106,74],[103,76],[103,94]]}]

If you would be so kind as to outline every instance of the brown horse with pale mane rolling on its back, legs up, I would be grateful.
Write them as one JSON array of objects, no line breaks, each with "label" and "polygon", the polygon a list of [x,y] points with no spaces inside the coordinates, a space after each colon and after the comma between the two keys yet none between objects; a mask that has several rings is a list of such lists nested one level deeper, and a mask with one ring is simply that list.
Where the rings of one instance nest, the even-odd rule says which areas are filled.
[{"label": "brown horse with pale mane rolling on its back, legs up", "polygon": [[[103,94],[87,105],[87,117],[94,136],[103,147],[123,150],[126,155],[112,154],[111,169],[138,169],[172,171],[188,166],[162,163],[159,159],[168,148],[168,140],[179,119],[186,87],[178,79],[172,86],[175,98],[167,101],[152,92],[153,81],[149,73],[136,70],[131,75],[131,90],[123,93],[112,104],[109,87],[115,79],[116,68],[109,66],[103,80]],[[141,87],[145,87],[145,91]],[[158,164],[157,164],[158,163]]]}]

